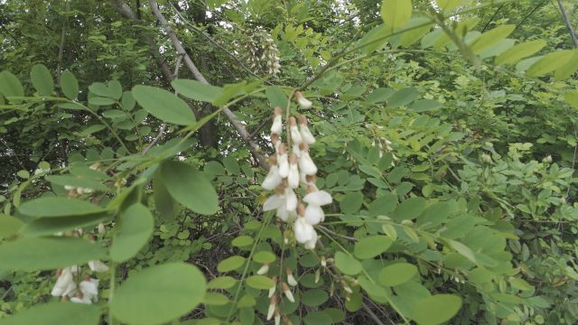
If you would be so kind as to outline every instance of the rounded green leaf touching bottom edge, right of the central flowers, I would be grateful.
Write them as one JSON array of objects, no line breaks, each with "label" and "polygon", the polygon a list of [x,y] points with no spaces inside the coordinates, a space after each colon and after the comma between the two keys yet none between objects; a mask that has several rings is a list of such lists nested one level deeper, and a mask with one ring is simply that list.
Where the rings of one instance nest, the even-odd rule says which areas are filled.
[{"label": "rounded green leaf touching bottom edge, right of the central flowers", "polygon": [[453,294],[434,294],[415,304],[411,318],[420,325],[442,324],[460,311],[461,298]]}]

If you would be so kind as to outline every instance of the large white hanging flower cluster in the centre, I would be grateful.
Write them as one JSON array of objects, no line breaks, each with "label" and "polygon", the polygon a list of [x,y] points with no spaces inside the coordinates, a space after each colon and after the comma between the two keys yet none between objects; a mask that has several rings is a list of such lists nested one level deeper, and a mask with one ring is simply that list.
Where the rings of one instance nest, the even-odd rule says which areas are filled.
[{"label": "large white hanging flower cluster in the centre", "polygon": [[[303,108],[311,107],[311,102],[296,92],[295,98]],[[317,166],[309,155],[309,145],[315,143],[307,118],[299,116],[299,124],[294,116],[289,117],[289,143],[293,143],[291,153],[282,143],[283,110],[275,107],[271,141],[275,146],[275,155],[269,158],[270,169],[263,181],[266,190],[275,190],[263,204],[263,210],[276,210],[276,216],[284,222],[294,222],[294,234],[297,242],[307,249],[313,249],[317,243],[317,233],[313,228],[325,218],[322,206],[331,204],[331,194],[318,190],[315,186]],[[307,194],[303,197],[305,206],[295,194],[296,189],[303,187]]]}]

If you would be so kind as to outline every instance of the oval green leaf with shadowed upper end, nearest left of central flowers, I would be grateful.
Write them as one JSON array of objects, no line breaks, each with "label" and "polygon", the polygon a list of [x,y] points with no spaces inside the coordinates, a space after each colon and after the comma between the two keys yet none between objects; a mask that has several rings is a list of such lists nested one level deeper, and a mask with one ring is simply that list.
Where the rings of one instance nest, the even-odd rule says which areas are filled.
[{"label": "oval green leaf with shadowed upper end, nearest left of central flowers", "polygon": [[219,209],[219,198],[210,181],[191,165],[161,164],[161,178],[172,198],[194,212],[211,215]]}]

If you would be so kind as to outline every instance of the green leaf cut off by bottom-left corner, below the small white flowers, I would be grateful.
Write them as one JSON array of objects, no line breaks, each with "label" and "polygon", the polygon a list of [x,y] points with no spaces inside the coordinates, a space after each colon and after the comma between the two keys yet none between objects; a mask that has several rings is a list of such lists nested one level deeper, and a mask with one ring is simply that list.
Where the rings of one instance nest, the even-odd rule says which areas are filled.
[{"label": "green leaf cut off by bottom-left corner, below the small white flowers", "polygon": [[19,311],[0,320],[0,325],[98,325],[100,308],[84,303],[49,302]]}]

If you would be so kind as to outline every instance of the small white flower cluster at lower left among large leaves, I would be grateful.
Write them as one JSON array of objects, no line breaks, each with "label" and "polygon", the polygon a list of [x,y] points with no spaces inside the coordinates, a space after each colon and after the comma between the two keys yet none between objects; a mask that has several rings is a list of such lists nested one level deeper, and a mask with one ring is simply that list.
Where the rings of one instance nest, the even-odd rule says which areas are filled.
[{"label": "small white flower cluster at lower left among large leaves", "polygon": [[[89,268],[93,272],[107,272],[108,266],[101,261],[89,261]],[[79,274],[79,266],[72,265],[58,270],[58,279],[52,288],[51,295],[62,297],[70,302],[87,303],[98,302],[98,279],[91,278],[89,274],[83,276],[77,285],[76,275]]]}]

